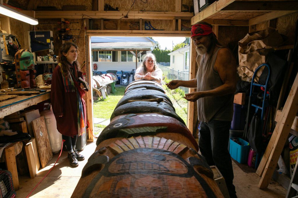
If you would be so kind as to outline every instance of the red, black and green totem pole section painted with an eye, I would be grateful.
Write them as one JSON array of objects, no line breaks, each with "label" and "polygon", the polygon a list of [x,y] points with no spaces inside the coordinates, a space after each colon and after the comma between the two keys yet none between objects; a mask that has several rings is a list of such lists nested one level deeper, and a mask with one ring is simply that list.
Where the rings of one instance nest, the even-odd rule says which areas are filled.
[{"label": "red, black and green totem pole section painted with an eye", "polygon": [[165,138],[171,138],[198,151],[198,143],[193,135],[184,124],[175,118],[157,113],[128,114],[125,117],[117,117],[100,133],[96,141],[98,148],[107,146],[109,142],[114,141],[109,140],[111,138],[155,135],[166,136]]}]

